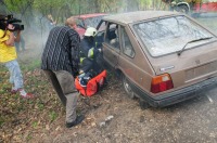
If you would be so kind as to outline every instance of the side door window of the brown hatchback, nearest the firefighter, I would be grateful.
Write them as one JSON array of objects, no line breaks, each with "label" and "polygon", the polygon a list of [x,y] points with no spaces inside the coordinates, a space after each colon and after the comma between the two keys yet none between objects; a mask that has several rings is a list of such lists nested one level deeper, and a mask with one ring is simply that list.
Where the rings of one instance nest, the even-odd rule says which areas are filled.
[{"label": "side door window of the brown hatchback, nearest the firefighter", "polygon": [[105,42],[119,50],[118,25],[108,23]]}]

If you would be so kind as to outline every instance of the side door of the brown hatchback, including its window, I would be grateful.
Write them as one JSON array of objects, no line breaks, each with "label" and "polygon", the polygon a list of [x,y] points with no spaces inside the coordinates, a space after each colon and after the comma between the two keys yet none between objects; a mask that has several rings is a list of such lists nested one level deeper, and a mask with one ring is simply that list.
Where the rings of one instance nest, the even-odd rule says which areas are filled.
[{"label": "side door of the brown hatchback, including its window", "polygon": [[107,23],[105,38],[103,42],[103,58],[112,66],[118,64],[120,44],[118,24]]}]

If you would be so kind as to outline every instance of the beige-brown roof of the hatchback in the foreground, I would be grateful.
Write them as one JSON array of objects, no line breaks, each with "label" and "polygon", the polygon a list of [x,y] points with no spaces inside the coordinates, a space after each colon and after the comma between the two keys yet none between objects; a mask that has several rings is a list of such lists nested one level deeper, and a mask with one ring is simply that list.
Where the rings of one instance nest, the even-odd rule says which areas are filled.
[{"label": "beige-brown roof of the hatchback in the foreground", "polygon": [[128,13],[104,16],[103,20],[119,24],[130,24],[143,20],[150,20],[161,16],[164,17],[169,15],[178,15],[178,14],[179,13],[177,12],[170,12],[170,11],[137,11],[137,12],[128,12]]}]

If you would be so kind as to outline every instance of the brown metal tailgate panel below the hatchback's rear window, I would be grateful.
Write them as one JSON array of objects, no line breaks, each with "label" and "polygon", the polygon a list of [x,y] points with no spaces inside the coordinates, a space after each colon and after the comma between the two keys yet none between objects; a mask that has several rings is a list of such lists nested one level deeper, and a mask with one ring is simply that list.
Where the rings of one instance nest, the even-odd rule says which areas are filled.
[{"label": "brown metal tailgate panel below the hatchback's rear window", "polygon": [[177,53],[149,57],[155,75],[169,74],[174,89],[217,76],[217,40]]}]

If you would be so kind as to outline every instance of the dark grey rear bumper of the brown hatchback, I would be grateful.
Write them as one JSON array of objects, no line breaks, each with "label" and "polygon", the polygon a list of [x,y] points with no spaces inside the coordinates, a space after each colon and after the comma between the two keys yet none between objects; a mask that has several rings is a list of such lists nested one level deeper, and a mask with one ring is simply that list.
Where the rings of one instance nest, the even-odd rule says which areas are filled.
[{"label": "dark grey rear bumper of the brown hatchback", "polygon": [[136,93],[141,99],[145,100],[151,106],[154,107],[168,106],[175,103],[192,99],[194,96],[203,95],[215,88],[217,88],[217,77],[209,78],[193,86],[189,86],[180,90],[176,90],[157,96],[149,95],[144,91],[132,86],[133,91],[136,91]]}]

